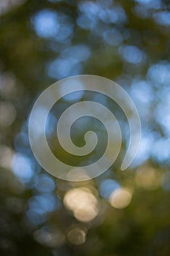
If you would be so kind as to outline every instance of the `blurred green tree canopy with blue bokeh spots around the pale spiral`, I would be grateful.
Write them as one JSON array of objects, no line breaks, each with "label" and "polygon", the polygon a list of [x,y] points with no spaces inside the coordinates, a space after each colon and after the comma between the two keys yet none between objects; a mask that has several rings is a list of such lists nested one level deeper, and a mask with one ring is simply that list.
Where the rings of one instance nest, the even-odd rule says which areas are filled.
[{"label": "blurred green tree canopy with blue bokeh spots around the pale spiral", "polygon": [[[169,256],[169,1],[1,0],[0,15],[0,255]],[[104,76],[128,91],[142,140],[133,165],[121,172],[129,137],[123,113],[101,95],[83,94],[81,100],[105,100],[120,117],[123,146],[106,173],[69,182],[34,159],[28,117],[47,86],[80,74]],[[78,100],[61,99],[53,108],[53,151],[56,120]],[[89,124],[102,130],[86,123],[82,134],[74,128],[75,143]]]}]

